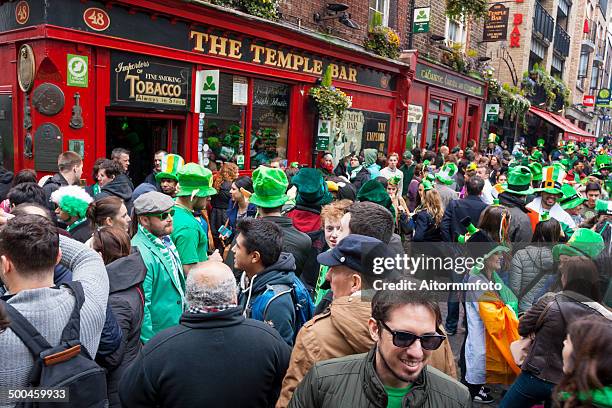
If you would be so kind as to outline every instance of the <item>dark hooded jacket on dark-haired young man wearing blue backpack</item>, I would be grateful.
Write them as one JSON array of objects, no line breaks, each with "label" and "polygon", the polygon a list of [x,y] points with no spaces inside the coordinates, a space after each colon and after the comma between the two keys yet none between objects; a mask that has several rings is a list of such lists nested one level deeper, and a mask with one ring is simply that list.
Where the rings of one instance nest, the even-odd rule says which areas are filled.
[{"label": "dark hooded jacket on dark-haired young man wearing blue backpack", "polygon": [[271,289],[272,285],[293,285],[295,279],[295,259],[287,252],[281,252],[278,260],[264,269],[262,272],[250,279],[249,286],[244,283],[246,274],[243,274],[241,291],[238,303],[244,309],[246,316],[260,320],[274,327],[283,340],[290,346],[293,345],[295,327],[295,307],[290,293],[281,295],[272,300],[267,306],[264,314],[262,308],[253,308],[257,298],[265,291]]}]

